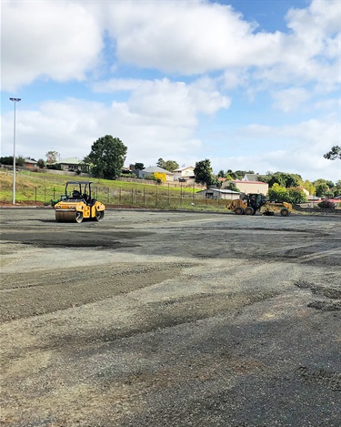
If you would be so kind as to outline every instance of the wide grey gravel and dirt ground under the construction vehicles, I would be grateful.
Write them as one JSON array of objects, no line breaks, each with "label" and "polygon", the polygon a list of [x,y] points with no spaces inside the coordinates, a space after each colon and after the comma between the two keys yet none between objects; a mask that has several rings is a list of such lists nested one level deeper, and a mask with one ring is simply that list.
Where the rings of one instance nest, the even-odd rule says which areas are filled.
[{"label": "wide grey gravel and dirt ground under the construction vehicles", "polygon": [[341,425],[341,218],[0,216],[0,425]]}]

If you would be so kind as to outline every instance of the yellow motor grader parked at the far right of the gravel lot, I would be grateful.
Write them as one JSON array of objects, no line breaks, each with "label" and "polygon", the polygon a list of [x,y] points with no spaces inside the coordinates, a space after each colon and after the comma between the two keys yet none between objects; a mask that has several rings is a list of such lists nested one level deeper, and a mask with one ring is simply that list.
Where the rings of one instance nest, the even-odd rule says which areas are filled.
[{"label": "yellow motor grader parked at the far right of the gravel lot", "polygon": [[240,198],[232,200],[226,208],[235,212],[236,215],[255,215],[258,210],[263,215],[275,215],[279,213],[281,217],[288,217],[293,211],[293,205],[287,202],[277,202],[267,200],[263,194],[244,194]]}]

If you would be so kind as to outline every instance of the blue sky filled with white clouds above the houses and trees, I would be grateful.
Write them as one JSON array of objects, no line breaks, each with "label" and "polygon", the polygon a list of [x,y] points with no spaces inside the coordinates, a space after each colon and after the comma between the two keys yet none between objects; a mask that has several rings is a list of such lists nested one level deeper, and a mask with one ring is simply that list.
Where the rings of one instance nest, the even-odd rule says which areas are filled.
[{"label": "blue sky filled with white clouds above the houses and trees", "polygon": [[1,0],[2,156],[341,179],[339,0]]}]

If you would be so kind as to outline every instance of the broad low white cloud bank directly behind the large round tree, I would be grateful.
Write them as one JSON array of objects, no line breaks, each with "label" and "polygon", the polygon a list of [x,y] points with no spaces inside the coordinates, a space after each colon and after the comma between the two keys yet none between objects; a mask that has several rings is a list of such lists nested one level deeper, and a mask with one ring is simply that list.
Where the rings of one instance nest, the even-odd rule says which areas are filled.
[{"label": "broad low white cloud bank directly behind the large round tree", "polygon": [[[134,86],[129,80],[115,83],[120,88]],[[201,145],[196,137],[197,116],[228,106],[229,99],[209,79],[189,86],[168,79],[141,81],[126,102],[113,102],[111,107],[79,99],[45,102],[38,111],[21,106],[16,121],[17,152],[42,158],[49,149],[57,149],[62,158],[84,157],[95,139],[110,134],[123,140],[131,161],[181,158]],[[8,155],[12,134],[13,115],[8,113],[2,122],[3,151]]]}]

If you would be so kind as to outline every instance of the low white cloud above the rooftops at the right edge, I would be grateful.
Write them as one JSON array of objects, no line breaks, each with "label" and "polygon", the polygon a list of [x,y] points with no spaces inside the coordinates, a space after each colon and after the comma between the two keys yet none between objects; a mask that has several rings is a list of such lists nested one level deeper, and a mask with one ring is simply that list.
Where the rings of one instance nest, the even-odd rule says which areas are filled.
[{"label": "low white cloud above the rooftops at the right edge", "polygon": [[[251,125],[236,129],[236,133],[242,140],[252,134],[256,149],[249,147],[243,156],[236,151],[235,155],[231,152],[230,156],[211,157],[216,171],[247,168],[261,174],[268,170],[298,173],[310,180],[341,179],[340,162],[323,157],[331,147],[340,144],[341,123],[335,116],[282,127]],[[230,145],[234,144],[233,134]]]}]

